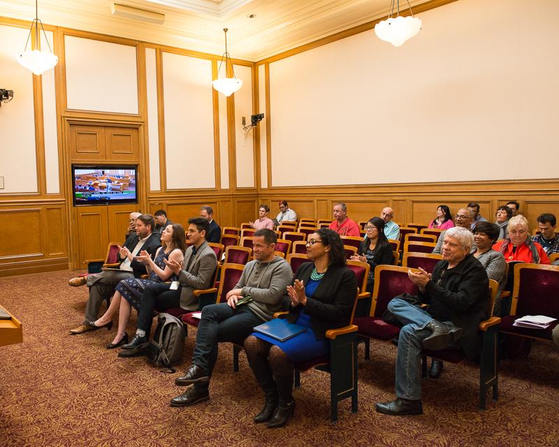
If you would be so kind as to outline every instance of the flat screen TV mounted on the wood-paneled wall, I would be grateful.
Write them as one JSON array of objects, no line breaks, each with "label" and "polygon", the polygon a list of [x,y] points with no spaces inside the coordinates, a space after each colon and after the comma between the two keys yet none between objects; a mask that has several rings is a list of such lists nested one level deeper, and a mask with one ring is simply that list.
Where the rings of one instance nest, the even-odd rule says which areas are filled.
[{"label": "flat screen TV mounted on the wood-paneled wall", "polygon": [[138,203],[137,171],[137,166],[72,166],[74,205]]}]

